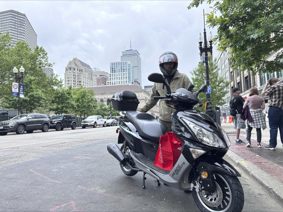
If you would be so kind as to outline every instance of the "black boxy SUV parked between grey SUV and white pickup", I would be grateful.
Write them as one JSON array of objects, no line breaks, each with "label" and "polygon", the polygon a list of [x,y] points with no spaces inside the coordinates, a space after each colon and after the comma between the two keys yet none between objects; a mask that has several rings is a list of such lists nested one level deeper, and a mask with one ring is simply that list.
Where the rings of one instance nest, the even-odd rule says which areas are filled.
[{"label": "black boxy SUV parked between grey SUV and white pickup", "polygon": [[76,126],[77,122],[74,115],[55,115],[50,119],[50,129],[53,128],[57,131],[63,130],[65,127],[71,127],[74,130]]}]

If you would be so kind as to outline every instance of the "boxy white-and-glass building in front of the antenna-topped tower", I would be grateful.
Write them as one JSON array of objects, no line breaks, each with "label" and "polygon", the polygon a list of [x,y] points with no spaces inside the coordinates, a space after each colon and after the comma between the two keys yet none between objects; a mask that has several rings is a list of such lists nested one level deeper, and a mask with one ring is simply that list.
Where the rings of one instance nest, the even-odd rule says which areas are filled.
[{"label": "boxy white-and-glass building in front of the antenna-topped tower", "polygon": [[134,84],[134,68],[131,61],[110,62],[107,85]]}]

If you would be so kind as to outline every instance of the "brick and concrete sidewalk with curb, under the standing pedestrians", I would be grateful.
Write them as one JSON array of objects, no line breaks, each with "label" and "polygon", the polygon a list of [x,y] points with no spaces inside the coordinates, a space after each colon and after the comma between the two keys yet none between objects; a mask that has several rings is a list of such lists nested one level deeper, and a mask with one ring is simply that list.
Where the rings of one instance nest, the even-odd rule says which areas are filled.
[{"label": "brick and concrete sidewalk with curb, under the standing pedestrians", "polygon": [[[251,147],[245,144],[236,144],[236,133],[233,123],[221,123],[231,140],[229,151],[225,159],[240,167],[253,180],[283,206],[283,147],[280,134],[277,135],[276,150],[265,149],[269,144],[269,125],[266,119],[266,129],[261,129],[261,148],[256,147],[256,130],[251,133]],[[241,129],[240,138],[246,141],[246,130]]]}]

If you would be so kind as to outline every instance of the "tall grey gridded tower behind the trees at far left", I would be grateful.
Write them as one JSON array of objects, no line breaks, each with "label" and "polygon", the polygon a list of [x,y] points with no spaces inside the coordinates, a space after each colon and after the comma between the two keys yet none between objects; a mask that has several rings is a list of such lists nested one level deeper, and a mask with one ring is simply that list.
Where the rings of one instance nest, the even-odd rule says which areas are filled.
[{"label": "tall grey gridded tower behind the trees at far left", "polygon": [[15,46],[18,41],[25,41],[33,50],[37,45],[37,35],[32,28],[30,21],[24,13],[15,10],[6,10],[0,12],[0,31],[6,32],[12,36],[12,44]]}]

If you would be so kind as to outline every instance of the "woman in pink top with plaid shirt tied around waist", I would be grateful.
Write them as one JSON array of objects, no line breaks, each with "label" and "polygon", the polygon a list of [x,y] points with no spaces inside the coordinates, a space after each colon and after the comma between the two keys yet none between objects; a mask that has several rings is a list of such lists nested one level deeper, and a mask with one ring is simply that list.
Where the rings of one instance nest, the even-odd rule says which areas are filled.
[{"label": "woman in pink top with plaid shirt tied around waist", "polygon": [[264,130],[266,128],[265,117],[262,110],[265,108],[264,99],[259,96],[259,90],[257,87],[252,87],[249,92],[249,97],[246,99],[243,108],[246,108],[250,103],[250,113],[253,118],[253,122],[246,120],[246,131],[247,131],[247,145],[251,146],[251,130],[256,128],[257,147],[261,147],[261,127]]}]

